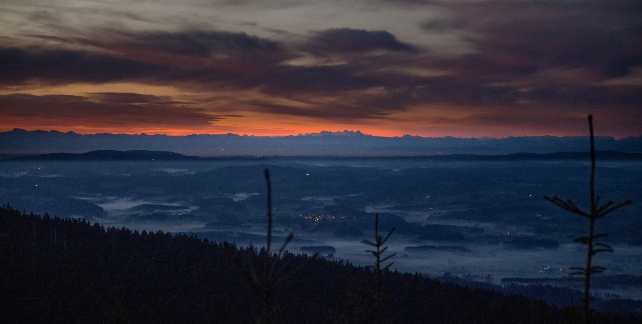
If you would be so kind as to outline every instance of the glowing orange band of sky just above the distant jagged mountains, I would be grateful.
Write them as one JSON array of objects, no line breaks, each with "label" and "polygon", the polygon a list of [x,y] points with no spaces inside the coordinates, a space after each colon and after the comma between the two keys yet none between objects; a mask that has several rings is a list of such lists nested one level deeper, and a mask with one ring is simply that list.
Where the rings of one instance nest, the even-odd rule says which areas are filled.
[{"label": "glowing orange band of sky just above the distant jagged mountains", "polygon": [[[108,83],[41,87],[31,89],[28,93],[13,91],[1,94],[22,96],[23,101],[15,101],[17,104],[12,110],[0,111],[0,132],[22,128],[28,131],[56,130],[81,134],[145,133],[173,136],[225,133],[288,136],[343,130],[381,137],[586,135],[586,117],[581,107],[560,114],[557,107],[530,109],[532,107],[525,106],[507,111],[502,107],[471,110],[465,106],[424,104],[393,109],[388,114],[366,113],[349,117],[352,112],[345,107],[337,110],[336,114],[327,114],[335,103],[341,102],[340,97],[295,100],[272,98],[252,90],[203,93],[167,86]],[[55,101],[60,95],[80,99],[64,101],[63,98]],[[43,101],[29,101],[34,98]],[[50,102],[47,101],[49,98],[54,99]],[[130,101],[118,101],[123,98]],[[257,106],[252,100],[260,101],[265,106]],[[268,110],[266,107],[270,105],[277,108]],[[290,110],[279,110],[278,107],[290,107]],[[601,117],[601,129],[596,130],[596,135],[613,136],[616,139],[642,135],[609,133],[621,128],[618,114],[594,115]],[[623,111],[621,115],[626,115],[626,112]]]}]

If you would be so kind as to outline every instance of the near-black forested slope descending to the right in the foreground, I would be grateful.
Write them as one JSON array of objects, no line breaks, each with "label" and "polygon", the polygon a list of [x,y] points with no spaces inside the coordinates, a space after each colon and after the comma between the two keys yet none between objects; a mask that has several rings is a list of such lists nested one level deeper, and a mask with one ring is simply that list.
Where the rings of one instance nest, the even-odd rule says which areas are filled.
[{"label": "near-black forested slope descending to the right in the foreground", "polygon": [[[221,242],[132,232],[85,220],[0,209],[0,302],[7,323],[253,323],[261,305]],[[266,251],[235,253],[256,262]],[[293,267],[308,255],[285,253]],[[317,259],[274,296],[277,323],[360,323],[369,268]],[[394,323],[572,323],[570,309],[421,274],[386,271],[384,316]],[[594,323],[639,323],[598,313]]]}]

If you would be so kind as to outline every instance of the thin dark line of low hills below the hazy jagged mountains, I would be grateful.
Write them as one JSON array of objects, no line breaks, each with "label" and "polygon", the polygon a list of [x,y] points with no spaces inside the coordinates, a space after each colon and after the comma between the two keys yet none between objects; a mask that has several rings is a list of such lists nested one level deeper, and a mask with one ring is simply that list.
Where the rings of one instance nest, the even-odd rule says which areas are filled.
[{"label": "thin dark line of low hills below the hazy jagged mountains", "polygon": [[[642,160],[642,153],[625,153],[619,151],[596,151],[596,158],[600,160]],[[282,158],[282,157],[273,157]],[[291,158],[316,158],[316,157],[291,157]],[[331,158],[331,157],[330,157]],[[343,158],[343,157],[335,157]],[[589,160],[591,152],[555,152],[547,154],[539,153],[512,153],[508,155],[473,155],[473,154],[449,154],[449,155],[419,155],[412,157],[367,157],[390,159],[413,159],[413,160]],[[48,153],[42,155],[31,155],[26,157],[12,157],[10,160],[262,160],[261,157],[195,157],[182,155],[169,151],[146,151],[143,149],[132,149],[129,151],[115,151],[111,149],[99,149],[87,153]]]}]

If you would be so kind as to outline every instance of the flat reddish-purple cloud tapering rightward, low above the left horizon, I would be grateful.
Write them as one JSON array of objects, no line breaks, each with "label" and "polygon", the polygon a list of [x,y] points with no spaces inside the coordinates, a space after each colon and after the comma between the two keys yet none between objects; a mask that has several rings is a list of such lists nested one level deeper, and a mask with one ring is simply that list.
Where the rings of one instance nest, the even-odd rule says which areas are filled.
[{"label": "flat reddish-purple cloud tapering rightward, low above the left horizon", "polygon": [[[94,130],[171,129],[208,126],[227,115],[203,114],[203,109],[170,98],[134,93],[94,93],[88,96],[49,94],[0,95],[3,124],[82,125]],[[241,117],[241,116],[239,116]]]}]

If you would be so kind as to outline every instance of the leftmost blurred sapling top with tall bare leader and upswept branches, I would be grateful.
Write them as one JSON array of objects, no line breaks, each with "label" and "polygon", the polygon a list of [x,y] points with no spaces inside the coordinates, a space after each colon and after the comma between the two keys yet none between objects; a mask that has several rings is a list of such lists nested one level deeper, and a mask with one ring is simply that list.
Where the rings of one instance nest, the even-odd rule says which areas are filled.
[{"label": "leftmost blurred sapling top with tall bare leader and upswept branches", "polygon": [[270,170],[265,169],[265,181],[267,183],[267,205],[268,205],[268,230],[266,235],[266,252],[260,253],[259,256],[263,256],[263,278],[259,278],[254,271],[254,266],[252,266],[252,258],[248,258],[247,266],[241,262],[239,259],[236,248],[233,248],[232,245],[225,242],[223,246],[227,251],[232,255],[232,261],[241,271],[241,274],[248,281],[254,293],[259,296],[263,302],[263,316],[259,319],[259,323],[262,324],[273,324],[273,311],[272,311],[272,296],[275,291],[288,279],[299,273],[302,269],[306,268],[310,262],[317,259],[318,253],[312,255],[307,262],[300,265],[298,268],[295,268],[291,271],[290,262],[282,262],[282,255],[285,252],[285,248],[290,243],[294,237],[293,233],[290,233],[286,237],[285,242],[279,249],[279,253],[272,255],[272,186],[270,185]]}]

